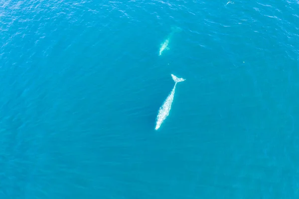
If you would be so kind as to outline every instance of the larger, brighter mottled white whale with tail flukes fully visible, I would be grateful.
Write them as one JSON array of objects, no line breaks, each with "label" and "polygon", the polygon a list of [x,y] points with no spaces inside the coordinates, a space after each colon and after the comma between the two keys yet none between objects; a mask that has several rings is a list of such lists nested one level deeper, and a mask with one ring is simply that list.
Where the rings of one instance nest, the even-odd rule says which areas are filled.
[{"label": "larger, brighter mottled white whale with tail flukes fully visible", "polygon": [[170,92],[170,94],[168,95],[168,97],[165,99],[164,103],[162,104],[162,106],[159,108],[159,111],[158,111],[158,115],[157,115],[157,118],[156,118],[156,125],[155,125],[155,130],[158,130],[161,126],[161,124],[163,123],[163,121],[167,118],[169,112],[170,112],[170,109],[171,109],[171,104],[172,104],[172,101],[173,101],[173,97],[174,97],[174,91],[175,91],[175,86],[178,82],[181,82],[181,81],[185,81],[185,79],[183,78],[178,78],[176,77],[175,75],[171,74],[171,77],[173,79],[173,81],[175,82],[174,83],[174,86]]}]

